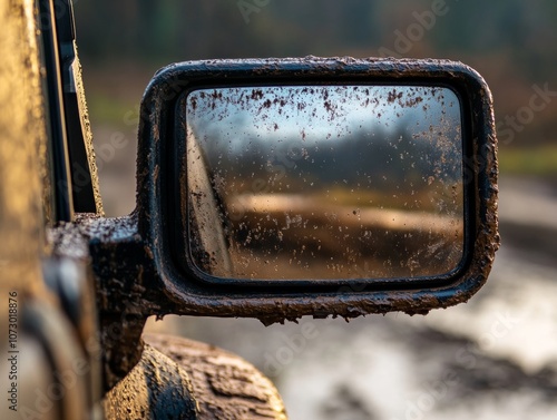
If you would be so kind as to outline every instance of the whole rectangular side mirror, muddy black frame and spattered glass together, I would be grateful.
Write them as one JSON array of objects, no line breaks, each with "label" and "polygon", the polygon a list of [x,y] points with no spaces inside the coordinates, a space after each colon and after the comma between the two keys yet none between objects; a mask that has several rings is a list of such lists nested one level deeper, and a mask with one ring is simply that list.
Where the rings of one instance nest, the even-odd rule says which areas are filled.
[{"label": "whole rectangular side mirror, muddy black frame and spattered glass together", "polygon": [[438,60],[173,65],[139,128],[159,312],[353,318],[467,301],[498,247],[491,95]]}]

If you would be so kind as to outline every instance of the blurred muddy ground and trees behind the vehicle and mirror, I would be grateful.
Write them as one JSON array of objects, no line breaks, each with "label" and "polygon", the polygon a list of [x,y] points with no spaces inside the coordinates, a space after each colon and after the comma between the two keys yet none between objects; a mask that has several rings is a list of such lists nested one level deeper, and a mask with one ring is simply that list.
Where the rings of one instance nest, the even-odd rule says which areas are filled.
[{"label": "blurred muddy ground and trees behind the vehicle and mirror", "polygon": [[109,216],[134,208],[139,104],[165,65],[394,56],[477,69],[496,105],[502,246],[470,303],[270,328],[168,316],[149,329],[241,354],[294,420],[557,417],[557,2],[75,0],[75,11]]}]

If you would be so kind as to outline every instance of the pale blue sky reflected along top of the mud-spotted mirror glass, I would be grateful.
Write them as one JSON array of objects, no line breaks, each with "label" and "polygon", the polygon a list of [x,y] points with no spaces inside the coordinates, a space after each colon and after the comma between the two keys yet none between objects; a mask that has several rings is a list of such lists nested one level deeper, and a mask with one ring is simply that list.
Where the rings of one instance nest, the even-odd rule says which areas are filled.
[{"label": "pale blue sky reflected along top of the mud-spotted mirror glass", "polygon": [[447,88],[227,88],[196,90],[187,100],[188,127],[204,127],[212,143],[229,141],[231,150],[245,147],[246,138],[272,147],[295,137],[335,141],[359,130],[392,133],[402,126],[414,136],[426,137],[432,129],[444,131],[460,126],[458,97]]}]

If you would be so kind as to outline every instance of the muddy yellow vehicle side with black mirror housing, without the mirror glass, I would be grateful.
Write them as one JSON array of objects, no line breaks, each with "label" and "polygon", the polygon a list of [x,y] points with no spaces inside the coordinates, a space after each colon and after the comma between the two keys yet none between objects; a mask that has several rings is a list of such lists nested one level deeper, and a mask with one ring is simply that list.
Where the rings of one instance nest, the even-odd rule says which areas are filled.
[{"label": "muddy yellow vehicle side with black mirror housing, without the mirror glass", "polygon": [[[273,323],[302,315],[426,313],[467,300],[486,281],[498,244],[496,140],[489,91],[471,70],[449,62],[315,58],[169,67],[155,77],[143,104],[137,209],[109,219],[99,195],[71,2],[18,0],[1,8],[0,290],[7,302],[2,310],[10,315],[8,322],[2,320],[1,331],[9,338],[2,348],[11,358],[2,369],[6,378],[13,378],[12,401],[2,416],[285,419],[276,390],[255,368],[202,343],[143,336],[146,319],[176,313],[253,316]],[[339,74],[352,82],[371,74],[383,77],[383,82],[399,77],[460,87],[473,109],[467,110],[475,115],[470,127],[479,138],[473,146],[486,147],[469,150],[480,156],[470,164],[471,180],[468,193],[462,193],[473,197],[466,203],[476,233],[458,274],[436,274],[433,282],[410,290],[399,287],[402,281],[391,290],[389,282],[385,289],[364,281],[307,280],[281,289],[281,281],[233,284],[233,275],[228,284],[215,286],[211,275],[196,272],[188,261],[188,276],[176,271],[169,243],[187,250],[192,237],[170,241],[168,225],[177,219],[177,232],[193,229],[184,215],[193,217],[195,211],[187,213],[184,203],[189,198],[183,197],[184,214],[169,216],[164,191],[170,188],[174,173],[159,145],[169,144],[163,136],[170,125],[162,121],[170,118],[173,101],[185,86],[223,86],[223,72],[225,86],[232,87],[253,80],[292,84],[293,78],[299,85],[328,86],[340,82]],[[451,79],[453,72],[457,77]],[[195,79],[196,74],[202,78]],[[176,147],[184,152],[185,144]],[[208,206],[216,208],[219,199],[215,195]],[[222,252],[222,262],[227,258],[222,250],[226,241],[231,240],[204,246]],[[196,281],[183,282],[186,277]]]}]

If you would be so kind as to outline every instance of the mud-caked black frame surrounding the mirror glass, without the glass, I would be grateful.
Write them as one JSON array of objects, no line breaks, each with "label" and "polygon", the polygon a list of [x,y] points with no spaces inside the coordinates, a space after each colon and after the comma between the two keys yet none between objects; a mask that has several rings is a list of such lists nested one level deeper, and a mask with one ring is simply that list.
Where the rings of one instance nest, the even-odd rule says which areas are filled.
[{"label": "mud-caked black frame surrounding the mirror glass, without the glass", "polygon": [[[458,94],[465,124],[463,264],[444,276],[404,282],[207,283],[207,279],[190,270],[173,251],[177,244],[187,245],[183,240],[180,244],[182,234],[176,235],[187,226],[179,188],[185,179],[177,177],[177,174],[184,177],[180,156],[185,152],[179,149],[179,141],[175,143],[174,121],[180,97],[196,88],[341,82],[434,85]],[[499,245],[497,139],[491,94],[481,76],[459,62],[309,57],[172,65],[155,75],[145,94],[137,166],[138,232],[153,260],[156,283],[169,301],[167,305],[162,304],[158,312],[257,318],[265,324],[302,315],[349,319],[390,311],[427,313],[473,295],[486,282]]]}]

